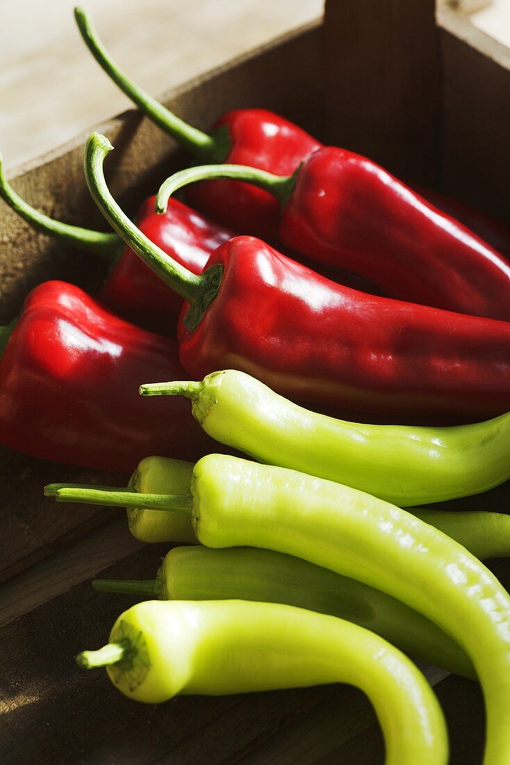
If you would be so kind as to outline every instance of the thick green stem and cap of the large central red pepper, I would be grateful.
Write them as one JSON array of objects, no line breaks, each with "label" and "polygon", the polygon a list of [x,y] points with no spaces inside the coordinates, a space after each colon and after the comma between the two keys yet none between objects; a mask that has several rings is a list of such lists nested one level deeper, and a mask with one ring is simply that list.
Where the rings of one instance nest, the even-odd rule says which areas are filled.
[{"label": "thick green stem and cap of the large central red pepper", "polygon": [[115,202],[106,185],[102,165],[112,148],[112,144],[104,135],[89,135],[85,147],[85,177],[90,194],[112,229],[165,284],[190,303],[184,324],[187,329],[193,331],[200,324],[207,306],[216,298],[223,266],[213,265],[201,275],[193,274],[141,233]]}]

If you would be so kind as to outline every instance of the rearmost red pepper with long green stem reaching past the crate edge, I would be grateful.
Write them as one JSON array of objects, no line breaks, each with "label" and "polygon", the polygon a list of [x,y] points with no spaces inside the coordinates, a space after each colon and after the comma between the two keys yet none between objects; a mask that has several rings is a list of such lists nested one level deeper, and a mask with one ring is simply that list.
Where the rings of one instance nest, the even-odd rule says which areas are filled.
[{"label": "rearmost red pepper with long green stem reaching past the crate edge", "polygon": [[[310,151],[320,147],[303,129],[267,109],[234,109],[224,114],[210,133],[188,125],[135,86],[119,70],[102,45],[92,20],[82,8],[74,11],[76,24],[93,57],[142,112],[184,146],[197,161],[253,164],[256,168],[287,175]],[[250,184],[229,181],[201,184],[190,194],[193,207],[207,210],[214,220],[242,233],[274,241],[278,236],[278,202]]]}]

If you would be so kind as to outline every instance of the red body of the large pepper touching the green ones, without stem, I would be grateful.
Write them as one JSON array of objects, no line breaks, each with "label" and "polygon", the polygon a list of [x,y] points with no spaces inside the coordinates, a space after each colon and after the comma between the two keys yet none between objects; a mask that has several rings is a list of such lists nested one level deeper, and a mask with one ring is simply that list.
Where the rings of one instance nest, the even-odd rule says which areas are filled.
[{"label": "red body of the large pepper touching the green ones, without stem", "polygon": [[218,295],[196,330],[180,322],[196,379],[241,369],[294,399],[398,416],[510,409],[510,323],[365,295],[253,237],[220,246],[216,263]]}]

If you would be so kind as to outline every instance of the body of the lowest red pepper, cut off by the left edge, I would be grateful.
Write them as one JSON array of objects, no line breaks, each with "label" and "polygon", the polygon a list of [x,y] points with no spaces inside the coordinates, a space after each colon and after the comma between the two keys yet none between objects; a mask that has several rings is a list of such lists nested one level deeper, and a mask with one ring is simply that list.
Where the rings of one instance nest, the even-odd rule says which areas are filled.
[{"label": "body of the lowest red pepper, cut off by the left edge", "polygon": [[45,282],[0,358],[0,442],[125,473],[150,454],[196,460],[215,444],[190,402],[138,395],[142,382],[183,377],[174,340],[128,324],[78,287]]}]

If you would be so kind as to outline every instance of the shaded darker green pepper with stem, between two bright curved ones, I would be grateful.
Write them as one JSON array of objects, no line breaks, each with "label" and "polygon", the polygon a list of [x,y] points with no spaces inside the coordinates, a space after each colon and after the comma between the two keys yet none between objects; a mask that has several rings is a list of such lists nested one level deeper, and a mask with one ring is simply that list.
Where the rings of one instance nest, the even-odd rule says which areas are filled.
[{"label": "shaded darker green pepper with stem, between two bright curved ones", "polygon": [[[164,515],[164,513],[160,513]],[[330,614],[382,636],[404,653],[475,678],[459,646],[430,620],[395,597],[282,552],[250,547],[174,547],[155,579],[96,579],[96,590],[161,601],[261,601]]]}]

